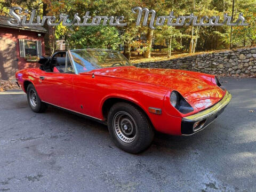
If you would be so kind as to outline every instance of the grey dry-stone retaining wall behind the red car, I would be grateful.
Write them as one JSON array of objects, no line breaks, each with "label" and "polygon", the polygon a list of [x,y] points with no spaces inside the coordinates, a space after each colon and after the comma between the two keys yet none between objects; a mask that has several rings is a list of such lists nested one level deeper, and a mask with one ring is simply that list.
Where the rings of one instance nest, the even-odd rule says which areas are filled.
[{"label": "grey dry-stone retaining wall behind the red car", "polygon": [[171,68],[228,76],[256,75],[256,47],[193,55],[167,61],[135,63],[143,68]]}]

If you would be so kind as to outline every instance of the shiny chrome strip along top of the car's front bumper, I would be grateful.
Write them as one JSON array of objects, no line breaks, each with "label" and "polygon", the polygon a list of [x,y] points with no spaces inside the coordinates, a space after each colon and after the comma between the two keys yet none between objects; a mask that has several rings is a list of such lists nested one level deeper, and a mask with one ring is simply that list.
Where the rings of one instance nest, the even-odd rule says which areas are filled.
[{"label": "shiny chrome strip along top of the car's front bumper", "polygon": [[214,106],[207,108],[203,111],[199,111],[198,113],[194,115],[190,115],[187,117],[183,117],[185,121],[198,121],[199,119],[207,118],[207,116],[210,116],[214,113],[217,113],[217,111],[221,110],[223,107],[227,106],[232,98],[232,95],[226,91],[225,96]]}]

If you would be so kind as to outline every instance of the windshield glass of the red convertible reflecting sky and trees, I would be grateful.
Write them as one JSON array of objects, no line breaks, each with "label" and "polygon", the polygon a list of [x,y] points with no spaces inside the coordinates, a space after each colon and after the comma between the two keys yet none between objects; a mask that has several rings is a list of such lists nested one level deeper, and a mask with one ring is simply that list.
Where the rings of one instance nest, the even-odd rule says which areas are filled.
[{"label": "windshield glass of the red convertible reflecting sky and trees", "polygon": [[72,50],[71,54],[78,73],[100,68],[131,66],[123,54],[114,50]]}]

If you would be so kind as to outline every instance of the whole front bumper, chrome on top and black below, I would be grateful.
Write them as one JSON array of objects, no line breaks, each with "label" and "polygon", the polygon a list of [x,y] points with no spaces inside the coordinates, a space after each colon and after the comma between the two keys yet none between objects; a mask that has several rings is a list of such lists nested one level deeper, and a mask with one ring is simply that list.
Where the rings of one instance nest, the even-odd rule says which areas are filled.
[{"label": "whole front bumper, chrome on top and black below", "polygon": [[[230,102],[232,96],[231,94],[226,91],[225,96],[215,105],[199,111],[196,114],[183,117],[181,122],[181,134],[182,135],[191,135],[198,131],[203,130],[206,126],[211,124],[227,107],[228,103]],[[197,122],[202,122],[202,127],[200,129],[194,130],[193,126]]]}]

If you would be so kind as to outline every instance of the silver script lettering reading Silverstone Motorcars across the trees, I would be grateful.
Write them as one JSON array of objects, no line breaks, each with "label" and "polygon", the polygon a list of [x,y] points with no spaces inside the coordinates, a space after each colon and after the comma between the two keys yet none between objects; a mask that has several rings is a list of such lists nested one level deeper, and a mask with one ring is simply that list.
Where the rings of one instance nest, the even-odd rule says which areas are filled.
[{"label": "silver script lettering reading Silverstone Motorcars across the trees", "polygon": [[[16,10],[18,10],[16,12]],[[158,16],[156,17],[155,10],[149,10],[147,8],[142,7],[133,7],[132,13],[138,14],[136,25],[139,26],[141,23],[142,14],[144,12],[144,18],[142,25],[147,26],[149,21],[149,14],[151,13],[151,18],[149,21],[149,27],[151,29],[155,29],[155,26],[249,26],[248,23],[245,23],[245,18],[243,17],[243,13],[239,13],[238,19],[236,22],[231,22],[232,18],[228,16],[227,13],[223,15],[222,22],[220,22],[220,16],[203,16],[197,22],[198,17],[193,13],[190,13],[189,16],[178,16],[175,17],[173,11],[170,12],[167,16]],[[78,13],[74,14],[74,18],[70,19],[69,15],[61,13],[59,18],[57,19],[55,16],[43,16],[42,19],[40,16],[36,16],[36,10],[32,10],[30,14],[30,19],[27,20],[27,15],[22,14],[21,7],[12,7],[10,9],[10,15],[13,18],[10,18],[8,24],[10,26],[43,26],[45,22],[49,26],[58,26],[62,22],[63,26],[99,26],[99,25],[110,25],[110,26],[127,26],[127,23],[124,22],[124,16],[90,16],[90,12],[87,11],[84,16],[79,17]],[[28,10],[25,10],[25,13],[29,13]]]}]

